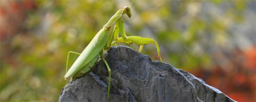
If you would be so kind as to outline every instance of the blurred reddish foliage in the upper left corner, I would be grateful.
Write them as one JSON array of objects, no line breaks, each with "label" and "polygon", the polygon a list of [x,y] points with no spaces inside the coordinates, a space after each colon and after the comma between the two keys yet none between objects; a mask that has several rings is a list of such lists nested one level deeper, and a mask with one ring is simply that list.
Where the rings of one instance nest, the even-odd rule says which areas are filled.
[{"label": "blurred reddish foliage in the upper left corner", "polygon": [[35,1],[3,1],[0,7],[0,40],[24,31],[28,11],[35,10]]}]

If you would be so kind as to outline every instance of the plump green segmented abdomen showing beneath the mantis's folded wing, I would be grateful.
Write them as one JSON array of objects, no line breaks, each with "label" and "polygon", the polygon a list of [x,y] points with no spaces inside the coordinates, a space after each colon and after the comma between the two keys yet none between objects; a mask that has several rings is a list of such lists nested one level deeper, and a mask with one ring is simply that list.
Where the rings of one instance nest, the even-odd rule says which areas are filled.
[{"label": "plump green segmented abdomen showing beneath the mantis's folded wing", "polygon": [[99,59],[100,54],[96,55],[92,61],[90,61],[88,64],[86,64],[82,69],[80,69],[75,76],[72,77],[72,80],[76,80],[78,78],[84,77],[86,74],[90,73],[97,63]]}]

